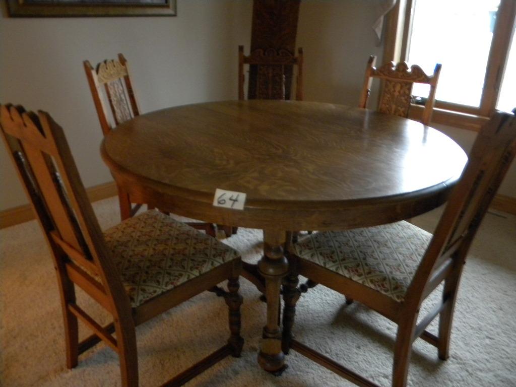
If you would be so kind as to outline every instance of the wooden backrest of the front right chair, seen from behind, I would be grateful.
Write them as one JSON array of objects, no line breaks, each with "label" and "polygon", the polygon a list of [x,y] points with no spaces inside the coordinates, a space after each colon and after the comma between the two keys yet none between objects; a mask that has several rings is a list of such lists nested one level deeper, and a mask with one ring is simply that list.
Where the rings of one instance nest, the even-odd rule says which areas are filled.
[{"label": "wooden backrest of the front right chair, seen from behind", "polygon": [[408,295],[420,295],[423,301],[450,270],[461,267],[515,154],[516,117],[496,112],[478,133]]}]

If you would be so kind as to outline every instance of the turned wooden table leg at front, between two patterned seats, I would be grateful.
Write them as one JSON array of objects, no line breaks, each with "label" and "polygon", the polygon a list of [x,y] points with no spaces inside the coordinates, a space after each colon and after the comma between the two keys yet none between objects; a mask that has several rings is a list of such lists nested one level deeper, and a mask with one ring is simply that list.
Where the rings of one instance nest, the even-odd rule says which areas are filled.
[{"label": "turned wooden table leg at front, between two patterned seats", "polygon": [[267,297],[267,325],[263,328],[262,348],[258,354],[260,366],[271,373],[281,373],[285,369],[285,355],[281,351],[280,286],[288,270],[288,262],[283,254],[285,231],[267,229],[263,231],[264,256],[258,263],[260,274],[265,279]]}]

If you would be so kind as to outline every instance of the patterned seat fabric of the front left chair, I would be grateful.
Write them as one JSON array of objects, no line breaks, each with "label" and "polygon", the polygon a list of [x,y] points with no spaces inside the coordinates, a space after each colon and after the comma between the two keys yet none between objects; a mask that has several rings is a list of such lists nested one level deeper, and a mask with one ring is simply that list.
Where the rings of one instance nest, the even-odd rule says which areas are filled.
[{"label": "patterned seat fabric of the front left chair", "polygon": [[104,237],[134,308],[239,259],[236,250],[157,211],[124,220]]}]

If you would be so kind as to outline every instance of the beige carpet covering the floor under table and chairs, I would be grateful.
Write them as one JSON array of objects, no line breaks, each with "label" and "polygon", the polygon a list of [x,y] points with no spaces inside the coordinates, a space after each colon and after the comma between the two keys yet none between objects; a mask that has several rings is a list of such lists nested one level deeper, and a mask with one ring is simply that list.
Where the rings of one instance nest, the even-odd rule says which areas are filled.
[{"label": "beige carpet covering the floor under table and chairs", "polygon": [[[118,219],[117,202],[94,205],[103,228]],[[505,215],[504,215],[505,216]],[[429,231],[436,214],[415,218]],[[228,243],[245,260],[260,256],[261,232],[239,229]],[[418,340],[409,370],[411,386],[516,386],[516,217],[488,214],[466,264],[452,334],[451,356]],[[256,363],[265,304],[241,281],[243,356],[227,358],[189,386],[346,386],[351,383],[293,352],[281,377]],[[85,299],[79,295],[80,299]],[[89,303],[92,305],[92,303]],[[395,326],[380,315],[317,286],[298,303],[298,340],[347,363],[382,385],[391,380]],[[107,322],[98,308],[93,314]],[[0,231],[0,385],[116,386],[118,359],[105,345],[86,352],[68,370],[54,270],[36,221]],[[83,329],[80,334],[89,334]],[[159,385],[221,345],[227,309],[205,293],[137,328],[140,385]]]}]

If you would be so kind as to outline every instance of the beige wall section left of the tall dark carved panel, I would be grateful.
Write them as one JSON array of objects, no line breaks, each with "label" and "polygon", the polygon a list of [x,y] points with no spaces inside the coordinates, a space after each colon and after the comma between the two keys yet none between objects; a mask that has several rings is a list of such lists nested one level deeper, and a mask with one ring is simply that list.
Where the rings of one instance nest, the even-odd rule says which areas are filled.
[{"label": "beige wall section left of the tall dark carved panel", "polygon": [[[0,19],[0,103],[49,111],[86,187],[111,181],[83,69],[125,55],[142,112],[236,99],[237,46],[249,47],[250,1],[178,0],[178,17]],[[0,146],[0,210],[27,203]]]}]

